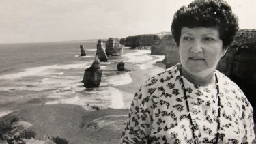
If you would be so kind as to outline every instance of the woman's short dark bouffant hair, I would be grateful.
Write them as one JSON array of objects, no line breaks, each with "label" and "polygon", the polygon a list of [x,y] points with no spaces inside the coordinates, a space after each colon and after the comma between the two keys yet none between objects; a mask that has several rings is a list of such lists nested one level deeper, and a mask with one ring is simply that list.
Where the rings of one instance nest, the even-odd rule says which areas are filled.
[{"label": "woman's short dark bouffant hair", "polygon": [[174,14],[171,32],[177,46],[182,27],[216,27],[223,47],[227,48],[238,32],[238,18],[223,0],[195,0]]}]

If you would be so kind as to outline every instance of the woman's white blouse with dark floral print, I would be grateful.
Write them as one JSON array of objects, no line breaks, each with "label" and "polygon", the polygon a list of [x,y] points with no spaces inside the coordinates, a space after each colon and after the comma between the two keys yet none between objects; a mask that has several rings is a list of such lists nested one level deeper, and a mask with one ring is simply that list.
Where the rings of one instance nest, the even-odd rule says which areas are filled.
[{"label": "woman's white blouse with dark floral print", "polygon": [[253,109],[240,88],[215,71],[221,102],[218,118],[216,86],[194,85],[181,76],[180,68],[179,63],[150,78],[135,93],[122,143],[216,143],[217,131],[218,143],[251,143]]}]

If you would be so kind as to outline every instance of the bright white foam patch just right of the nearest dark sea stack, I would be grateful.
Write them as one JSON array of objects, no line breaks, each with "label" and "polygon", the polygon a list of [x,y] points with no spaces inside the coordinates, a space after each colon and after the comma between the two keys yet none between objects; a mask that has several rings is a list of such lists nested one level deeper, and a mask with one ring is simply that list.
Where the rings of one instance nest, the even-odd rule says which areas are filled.
[{"label": "bright white foam patch just right of the nearest dark sea stack", "polygon": [[124,74],[118,74],[115,76],[109,76],[106,79],[106,83],[109,83],[113,86],[117,86],[117,85],[126,85],[128,83],[132,82],[132,78],[130,77],[129,72],[126,72]]}]

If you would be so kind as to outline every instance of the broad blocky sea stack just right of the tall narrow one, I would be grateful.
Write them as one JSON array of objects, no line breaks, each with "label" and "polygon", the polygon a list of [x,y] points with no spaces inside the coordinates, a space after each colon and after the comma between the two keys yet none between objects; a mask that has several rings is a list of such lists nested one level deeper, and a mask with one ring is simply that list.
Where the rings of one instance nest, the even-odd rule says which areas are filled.
[{"label": "broad blocky sea stack just right of the tall narrow one", "polygon": [[106,55],[123,55],[123,48],[118,38],[109,38],[106,41]]}]

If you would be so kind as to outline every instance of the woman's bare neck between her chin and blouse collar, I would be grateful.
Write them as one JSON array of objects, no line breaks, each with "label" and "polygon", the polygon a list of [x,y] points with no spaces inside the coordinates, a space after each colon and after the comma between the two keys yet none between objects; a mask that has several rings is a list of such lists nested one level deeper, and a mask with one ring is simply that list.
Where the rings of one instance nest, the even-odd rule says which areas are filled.
[{"label": "woman's bare neck between her chin and blouse collar", "polygon": [[182,75],[191,83],[196,85],[201,85],[203,87],[206,87],[208,85],[215,85],[214,83],[214,71],[210,74],[197,74],[195,76],[194,74],[190,74],[184,68],[182,68]]}]

